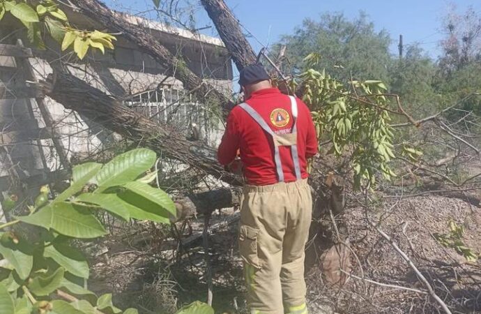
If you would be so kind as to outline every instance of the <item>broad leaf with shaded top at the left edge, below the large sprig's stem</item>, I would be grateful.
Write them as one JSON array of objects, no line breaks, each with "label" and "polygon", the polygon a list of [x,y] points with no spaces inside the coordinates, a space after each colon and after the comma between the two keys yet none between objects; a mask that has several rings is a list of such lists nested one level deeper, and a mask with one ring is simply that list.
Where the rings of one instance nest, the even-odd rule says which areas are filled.
[{"label": "broad leaf with shaded top at the left edge, below the large sprig's stem", "polygon": [[[1,237],[4,235],[2,233]],[[26,241],[19,239],[18,244],[0,241],[0,254],[13,266],[21,279],[26,279],[30,275],[33,267],[33,252]]]}]

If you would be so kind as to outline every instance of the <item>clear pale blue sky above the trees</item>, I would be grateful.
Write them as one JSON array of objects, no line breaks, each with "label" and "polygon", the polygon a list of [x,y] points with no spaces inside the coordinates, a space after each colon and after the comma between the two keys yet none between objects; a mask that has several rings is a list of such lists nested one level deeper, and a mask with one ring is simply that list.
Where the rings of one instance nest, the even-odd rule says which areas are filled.
[{"label": "clear pale blue sky above the trees", "polygon": [[[168,1],[168,0],[161,0]],[[418,42],[431,57],[439,54],[438,41],[443,37],[441,20],[450,4],[457,6],[463,13],[473,6],[481,13],[480,0],[225,0],[234,15],[247,31],[254,50],[279,40],[282,34],[292,33],[307,17],[318,19],[322,13],[342,12],[348,18],[359,15],[360,10],[367,13],[374,22],[376,30],[386,29],[393,40],[391,51],[397,53],[397,40],[402,33],[404,45]],[[142,12],[152,8],[151,0],[107,0],[111,8]],[[195,2],[195,1],[192,1]],[[202,8],[196,14],[198,27],[213,25]],[[215,36],[215,29],[203,31]]]}]

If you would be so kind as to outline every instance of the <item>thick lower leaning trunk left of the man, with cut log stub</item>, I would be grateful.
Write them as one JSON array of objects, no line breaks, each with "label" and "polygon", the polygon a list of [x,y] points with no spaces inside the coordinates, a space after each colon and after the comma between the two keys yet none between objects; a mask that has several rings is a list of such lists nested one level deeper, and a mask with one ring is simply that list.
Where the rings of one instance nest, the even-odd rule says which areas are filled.
[{"label": "thick lower leaning trunk left of the man, with cut log stub", "polygon": [[[238,177],[217,163],[215,149],[186,140],[184,135],[176,133],[169,126],[149,120],[83,80],[56,70],[42,84],[45,95],[105,128],[153,149],[158,154],[162,153],[167,158],[174,158],[211,174],[231,186],[241,185]],[[187,195],[177,202],[180,211],[178,218],[232,207],[236,202],[238,197],[230,189]]]}]

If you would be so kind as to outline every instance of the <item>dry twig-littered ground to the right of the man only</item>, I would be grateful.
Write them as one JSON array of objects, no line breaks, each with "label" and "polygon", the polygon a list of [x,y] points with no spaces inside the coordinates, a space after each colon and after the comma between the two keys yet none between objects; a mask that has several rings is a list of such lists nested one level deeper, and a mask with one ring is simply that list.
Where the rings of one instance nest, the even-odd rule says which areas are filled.
[{"label": "dry twig-littered ground to the right of the man only", "polygon": [[[479,255],[481,209],[463,200],[438,196],[413,197],[392,207],[394,204],[394,200],[379,204],[379,208],[370,210],[369,216],[374,220],[384,214],[379,227],[409,255],[452,313],[481,313],[480,262],[466,262],[455,249],[441,246],[434,238],[436,233],[447,233],[448,220],[455,220],[466,228],[464,244]],[[379,283],[425,290],[388,241],[367,223],[364,209],[348,209],[342,219],[358,257],[351,256],[353,274]],[[381,287],[355,278],[349,278],[342,287],[319,284],[321,280],[321,271],[312,268],[308,274],[312,307],[330,309],[326,313],[438,313],[438,307],[426,294]],[[323,313],[316,311],[312,313]]]}]

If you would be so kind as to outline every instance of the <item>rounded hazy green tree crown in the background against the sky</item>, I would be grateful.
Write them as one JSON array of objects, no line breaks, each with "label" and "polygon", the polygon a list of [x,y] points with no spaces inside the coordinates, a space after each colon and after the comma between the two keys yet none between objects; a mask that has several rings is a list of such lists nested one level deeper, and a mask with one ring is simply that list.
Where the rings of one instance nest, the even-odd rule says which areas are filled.
[{"label": "rounded hazy green tree crown in the background against the sky", "polygon": [[388,82],[390,36],[376,31],[365,13],[355,20],[342,13],[323,14],[319,20],[304,20],[293,35],[283,36],[293,68],[303,68],[303,58],[319,55],[316,70],[326,68],[338,79],[383,80]]}]

